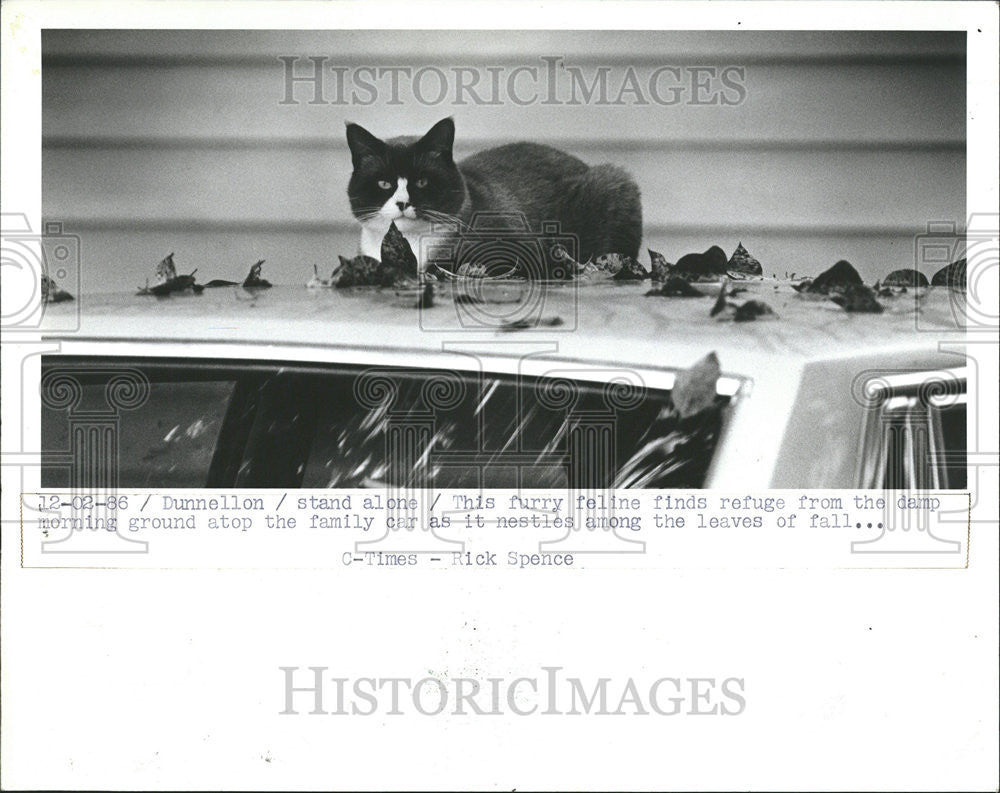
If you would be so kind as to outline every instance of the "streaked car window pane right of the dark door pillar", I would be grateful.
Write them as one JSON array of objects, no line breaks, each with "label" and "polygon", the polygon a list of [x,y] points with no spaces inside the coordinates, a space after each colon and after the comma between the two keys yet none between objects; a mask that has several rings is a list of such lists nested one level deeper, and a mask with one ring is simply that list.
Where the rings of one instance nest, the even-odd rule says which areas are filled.
[{"label": "streaked car window pane right of the dark door pillar", "polygon": [[[669,404],[652,393],[627,409],[600,385],[467,376],[454,372],[362,375],[391,399],[352,393],[321,410],[306,487],[390,482],[437,487],[610,486]],[[434,404],[434,389],[439,398]]]}]

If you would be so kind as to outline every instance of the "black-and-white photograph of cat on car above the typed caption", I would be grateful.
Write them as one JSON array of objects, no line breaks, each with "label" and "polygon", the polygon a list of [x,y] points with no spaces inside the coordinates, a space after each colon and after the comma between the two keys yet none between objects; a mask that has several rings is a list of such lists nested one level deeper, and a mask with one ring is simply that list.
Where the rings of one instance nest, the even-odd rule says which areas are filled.
[{"label": "black-and-white photograph of cat on car above the typed caption", "polygon": [[964,32],[46,30],[42,69],[46,486],[966,486]]}]

